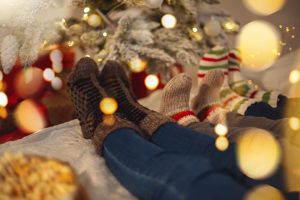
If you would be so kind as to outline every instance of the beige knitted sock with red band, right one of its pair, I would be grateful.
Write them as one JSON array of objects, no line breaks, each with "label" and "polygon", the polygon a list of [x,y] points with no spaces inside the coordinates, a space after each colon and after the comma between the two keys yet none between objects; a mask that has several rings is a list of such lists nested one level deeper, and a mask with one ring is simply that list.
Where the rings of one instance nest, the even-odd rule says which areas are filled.
[{"label": "beige knitted sock with red band, right one of its pair", "polygon": [[207,72],[201,81],[199,92],[192,102],[193,111],[200,121],[208,120],[212,124],[226,124],[226,111],[220,105],[220,88],[224,73],[221,70]]}]

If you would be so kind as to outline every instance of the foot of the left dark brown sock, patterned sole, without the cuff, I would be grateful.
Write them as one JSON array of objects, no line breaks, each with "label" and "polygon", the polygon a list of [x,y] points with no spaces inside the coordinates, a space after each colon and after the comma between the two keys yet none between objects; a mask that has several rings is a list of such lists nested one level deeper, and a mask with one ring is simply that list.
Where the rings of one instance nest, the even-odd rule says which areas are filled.
[{"label": "foot of the left dark brown sock, patterned sole, without the cuff", "polygon": [[68,92],[86,139],[93,136],[96,127],[102,122],[103,114],[99,110],[99,102],[107,96],[103,89],[99,90],[94,86],[93,83],[98,82],[97,76],[97,64],[90,58],[82,58],[68,80]]}]

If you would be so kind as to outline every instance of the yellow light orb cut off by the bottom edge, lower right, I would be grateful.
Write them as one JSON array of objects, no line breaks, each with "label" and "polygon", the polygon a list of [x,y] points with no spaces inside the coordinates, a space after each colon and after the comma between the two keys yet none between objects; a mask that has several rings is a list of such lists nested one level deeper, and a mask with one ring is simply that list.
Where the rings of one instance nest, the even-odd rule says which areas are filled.
[{"label": "yellow light orb cut off by the bottom edge, lower right", "polygon": [[245,200],[284,200],[284,197],[276,188],[262,185],[250,190]]}]

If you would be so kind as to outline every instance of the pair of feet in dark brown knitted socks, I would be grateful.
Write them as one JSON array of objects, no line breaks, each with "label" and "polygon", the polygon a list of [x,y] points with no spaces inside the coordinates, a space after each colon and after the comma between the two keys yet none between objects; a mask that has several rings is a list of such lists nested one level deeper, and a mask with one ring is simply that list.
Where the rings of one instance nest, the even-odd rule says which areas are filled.
[{"label": "pair of feet in dark brown knitted socks", "polygon": [[[82,58],[70,74],[68,91],[84,138],[93,139],[100,152],[104,139],[113,130],[133,128],[147,137],[170,121],[168,117],[138,104],[126,73],[117,62],[109,61],[100,74],[95,61]],[[105,97],[118,102],[115,123],[111,125],[103,123],[104,114],[99,109],[99,103]]]}]

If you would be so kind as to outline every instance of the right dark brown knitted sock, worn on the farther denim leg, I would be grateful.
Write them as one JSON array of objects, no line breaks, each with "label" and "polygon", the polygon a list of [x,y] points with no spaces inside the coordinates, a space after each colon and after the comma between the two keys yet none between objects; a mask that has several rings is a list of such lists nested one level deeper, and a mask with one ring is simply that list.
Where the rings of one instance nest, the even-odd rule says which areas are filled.
[{"label": "right dark brown knitted sock, worn on the farther denim leg", "polygon": [[129,80],[123,67],[109,61],[102,70],[100,85],[118,102],[117,113],[121,118],[138,125],[148,135],[171,119],[140,105],[130,88]]}]

